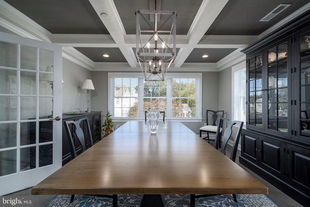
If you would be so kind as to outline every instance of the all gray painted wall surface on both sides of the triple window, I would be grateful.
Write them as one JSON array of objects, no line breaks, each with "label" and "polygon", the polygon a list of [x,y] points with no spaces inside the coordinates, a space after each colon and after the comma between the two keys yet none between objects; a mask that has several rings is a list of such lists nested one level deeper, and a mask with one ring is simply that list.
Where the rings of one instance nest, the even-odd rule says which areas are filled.
[{"label": "all gray painted wall surface on both sides of the triple window", "polygon": [[[104,114],[108,111],[108,72],[89,71],[78,64],[63,59],[63,112],[73,111],[80,108],[81,111],[87,109],[87,93],[81,90],[83,81],[87,78],[93,80],[95,90],[90,92],[90,108],[92,111],[102,111],[102,121]],[[205,122],[205,111],[224,110],[225,117],[232,117],[232,67],[219,72],[202,72],[202,121],[183,122],[195,133],[199,133],[199,128]],[[114,127],[122,125],[124,122],[114,122]]]}]

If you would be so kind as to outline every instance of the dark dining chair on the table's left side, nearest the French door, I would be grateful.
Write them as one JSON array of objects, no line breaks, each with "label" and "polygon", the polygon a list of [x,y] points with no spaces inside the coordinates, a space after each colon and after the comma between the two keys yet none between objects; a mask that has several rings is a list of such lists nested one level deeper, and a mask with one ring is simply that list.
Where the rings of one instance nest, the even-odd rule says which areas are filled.
[{"label": "dark dining chair on the table's left side, nearest the French door", "polygon": [[[84,134],[81,124],[86,124],[86,133]],[[87,117],[80,118],[78,121],[65,121],[64,128],[67,133],[71,159],[77,157],[77,147],[81,147],[81,153],[84,152],[87,148],[93,146],[92,131]],[[86,139],[85,139],[86,135]],[[80,146],[78,146],[78,143]],[[71,195],[70,203],[73,202],[75,195]],[[107,197],[113,199],[113,207],[117,207],[117,194],[113,195],[94,195],[99,197]]]}]

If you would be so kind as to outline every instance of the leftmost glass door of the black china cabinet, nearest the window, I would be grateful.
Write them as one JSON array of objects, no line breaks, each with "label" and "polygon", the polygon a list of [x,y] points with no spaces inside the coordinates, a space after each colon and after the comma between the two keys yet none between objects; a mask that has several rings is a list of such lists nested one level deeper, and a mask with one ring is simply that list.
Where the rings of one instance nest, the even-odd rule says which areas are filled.
[{"label": "leftmost glass door of the black china cabinet, nearest the window", "polygon": [[248,124],[256,127],[263,127],[262,67],[262,54],[248,60]]}]

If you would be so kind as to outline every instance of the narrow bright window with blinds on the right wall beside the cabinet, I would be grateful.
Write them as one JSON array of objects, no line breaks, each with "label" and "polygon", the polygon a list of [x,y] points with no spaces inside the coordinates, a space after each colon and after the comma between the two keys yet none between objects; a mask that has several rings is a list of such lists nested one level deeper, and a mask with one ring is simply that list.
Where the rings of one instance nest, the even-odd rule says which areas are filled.
[{"label": "narrow bright window with blinds on the right wall beside the cabinet", "polygon": [[233,66],[233,120],[246,123],[246,63]]}]

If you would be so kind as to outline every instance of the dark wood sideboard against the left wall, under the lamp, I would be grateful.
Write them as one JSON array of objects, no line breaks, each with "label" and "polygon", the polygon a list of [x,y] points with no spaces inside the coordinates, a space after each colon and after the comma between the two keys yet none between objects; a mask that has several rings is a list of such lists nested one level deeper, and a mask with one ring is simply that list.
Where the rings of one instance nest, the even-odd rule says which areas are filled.
[{"label": "dark wood sideboard against the left wall, under the lamp", "polygon": [[[64,122],[69,121],[69,120],[77,121],[78,119],[83,118],[83,117],[88,117],[89,124],[92,130],[93,143],[96,143],[101,139],[101,111],[92,111],[90,113],[83,113],[83,114],[63,114],[62,115],[62,165],[71,160],[68,137],[67,137],[66,130],[64,128]],[[80,127],[85,132],[84,136],[87,137],[88,134],[86,133],[86,130],[84,130],[86,127],[86,123],[81,122]],[[75,128],[72,128],[72,130],[74,131]],[[78,143],[78,141],[76,143],[76,146],[77,146],[77,154],[79,154],[81,152],[81,146]]]}]

